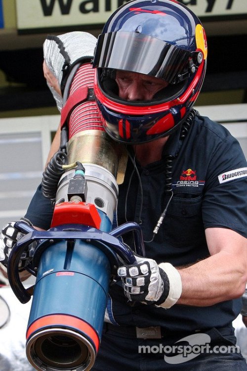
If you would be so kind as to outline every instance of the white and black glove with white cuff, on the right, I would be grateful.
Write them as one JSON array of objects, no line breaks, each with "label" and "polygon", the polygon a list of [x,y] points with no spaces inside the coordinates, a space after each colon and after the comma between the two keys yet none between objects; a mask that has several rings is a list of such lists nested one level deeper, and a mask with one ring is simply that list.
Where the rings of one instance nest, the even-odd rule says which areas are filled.
[{"label": "white and black glove with white cuff, on the right", "polygon": [[118,269],[124,294],[130,301],[170,308],[180,298],[181,277],[170,263],[136,256],[136,263]]}]

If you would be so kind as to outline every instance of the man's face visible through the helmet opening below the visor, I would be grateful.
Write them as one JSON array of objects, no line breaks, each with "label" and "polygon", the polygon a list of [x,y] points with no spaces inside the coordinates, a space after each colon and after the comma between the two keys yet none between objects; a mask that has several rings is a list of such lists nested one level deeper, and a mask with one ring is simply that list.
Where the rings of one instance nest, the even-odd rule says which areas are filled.
[{"label": "man's face visible through the helmet opening below the visor", "polygon": [[160,90],[167,87],[162,79],[136,72],[116,71],[119,96],[125,100],[151,100]]}]

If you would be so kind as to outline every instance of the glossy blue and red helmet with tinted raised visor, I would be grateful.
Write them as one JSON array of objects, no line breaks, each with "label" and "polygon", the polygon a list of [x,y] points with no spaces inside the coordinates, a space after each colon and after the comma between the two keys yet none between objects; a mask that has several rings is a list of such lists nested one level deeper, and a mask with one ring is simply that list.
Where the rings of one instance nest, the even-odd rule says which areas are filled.
[{"label": "glossy blue and red helmet with tinted raised visor", "polygon": [[[106,22],[95,48],[94,91],[106,132],[124,143],[170,135],[201,90],[207,45],[198,17],[175,0],[133,0]],[[149,101],[118,95],[116,70],[157,77],[168,86]]]}]

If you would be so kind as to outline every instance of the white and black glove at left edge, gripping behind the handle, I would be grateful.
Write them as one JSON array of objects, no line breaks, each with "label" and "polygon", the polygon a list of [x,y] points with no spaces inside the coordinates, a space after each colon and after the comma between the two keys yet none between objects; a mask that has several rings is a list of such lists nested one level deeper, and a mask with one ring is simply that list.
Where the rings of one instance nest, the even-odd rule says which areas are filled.
[{"label": "white and black glove at left edge, gripping behind the handle", "polygon": [[[28,219],[21,218],[20,220],[32,227],[32,224]],[[20,232],[17,228],[14,227],[15,223],[16,222],[7,223],[2,228],[0,233],[0,262],[5,268],[7,268],[8,257],[14,244],[25,235],[25,233]],[[35,250],[35,243],[36,242],[33,242],[29,246],[28,251],[22,253],[21,259],[19,261],[19,272],[23,271],[25,267],[32,261]]]}]

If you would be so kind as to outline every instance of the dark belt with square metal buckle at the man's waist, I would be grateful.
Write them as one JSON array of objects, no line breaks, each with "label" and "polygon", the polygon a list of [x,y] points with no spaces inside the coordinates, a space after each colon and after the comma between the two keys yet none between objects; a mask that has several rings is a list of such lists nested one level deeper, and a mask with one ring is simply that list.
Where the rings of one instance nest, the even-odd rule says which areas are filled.
[{"label": "dark belt with square metal buckle at the man's waist", "polygon": [[[161,326],[149,326],[149,327],[135,327],[135,326],[118,326],[112,325],[108,322],[104,322],[104,330],[117,332],[122,334],[124,337],[134,337],[137,339],[161,339],[162,337],[168,337],[171,334],[174,336],[175,333],[181,336],[181,331],[172,331],[170,329]],[[194,332],[200,332],[194,331]],[[190,332],[190,334],[192,334]],[[188,332],[187,332],[188,334]]]}]

